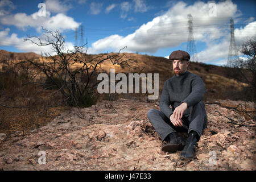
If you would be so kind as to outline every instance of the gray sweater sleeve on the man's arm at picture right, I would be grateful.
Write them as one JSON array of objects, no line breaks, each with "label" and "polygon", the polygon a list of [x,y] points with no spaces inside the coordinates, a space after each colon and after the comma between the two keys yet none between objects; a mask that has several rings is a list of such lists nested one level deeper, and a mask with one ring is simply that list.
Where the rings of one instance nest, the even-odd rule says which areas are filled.
[{"label": "gray sweater sleeve on the man's arm at picture right", "polygon": [[199,77],[195,76],[191,81],[192,90],[188,97],[185,98],[182,102],[186,102],[188,107],[196,105],[198,102],[203,100],[205,93],[204,81]]}]

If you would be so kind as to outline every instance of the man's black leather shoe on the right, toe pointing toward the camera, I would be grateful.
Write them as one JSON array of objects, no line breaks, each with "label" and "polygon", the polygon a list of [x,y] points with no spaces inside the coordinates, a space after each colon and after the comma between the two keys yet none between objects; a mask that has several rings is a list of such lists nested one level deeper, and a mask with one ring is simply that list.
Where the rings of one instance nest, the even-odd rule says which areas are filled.
[{"label": "man's black leather shoe on the right, toe pointing toward the camera", "polygon": [[184,158],[194,158],[195,154],[196,154],[196,149],[195,149],[195,145],[197,144],[197,133],[196,131],[192,131],[191,133],[189,133],[187,142],[185,144],[185,147],[183,149],[183,151],[181,151],[181,156],[183,156]]}]

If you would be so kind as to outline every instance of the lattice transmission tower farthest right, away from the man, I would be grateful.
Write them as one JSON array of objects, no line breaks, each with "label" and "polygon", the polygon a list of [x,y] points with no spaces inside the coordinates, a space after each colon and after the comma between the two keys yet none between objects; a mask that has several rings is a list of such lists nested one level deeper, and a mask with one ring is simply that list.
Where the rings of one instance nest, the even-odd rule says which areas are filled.
[{"label": "lattice transmission tower farthest right, away from the man", "polygon": [[238,58],[236,40],[234,39],[234,20],[230,19],[230,44],[227,67],[233,67],[233,60]]}]

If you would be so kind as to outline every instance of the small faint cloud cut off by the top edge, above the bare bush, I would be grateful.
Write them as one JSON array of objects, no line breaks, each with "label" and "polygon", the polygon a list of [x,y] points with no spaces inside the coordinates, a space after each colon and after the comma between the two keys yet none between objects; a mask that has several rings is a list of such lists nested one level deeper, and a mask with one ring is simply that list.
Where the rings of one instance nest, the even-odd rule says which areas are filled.
[{"label": "small faint cloud cut off by the top edge, above the bare bush", "polygon": [[52,13],[66,13],[71,9],[71,5],[66,5],[59,0],[46,0],[46,10]]}]

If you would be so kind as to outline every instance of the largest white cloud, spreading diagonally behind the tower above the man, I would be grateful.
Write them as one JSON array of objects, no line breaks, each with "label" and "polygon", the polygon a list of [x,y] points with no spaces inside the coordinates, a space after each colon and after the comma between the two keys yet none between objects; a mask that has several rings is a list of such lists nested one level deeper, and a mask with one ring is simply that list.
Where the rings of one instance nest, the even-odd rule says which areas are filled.
[{"label": "largest white cloud, spreading diagonally behind the tower above the man", "polygon": [[[126,18],[131,6],[123,2],[121,18]],[[216,4],[217,17],[210,17],[208,3],[195,2],[188,6],[184,2],[177,2],[165,14],[159,15],[150,22],[143,24],[133,34],[127,36],[112,35],[100,39],[92,44],[88,51],[93,53],[105,52],[127,46],[125,51],[154,53],[159,48],[176,47],[188,38],[187,15],[192,14],[194,24],[194,38],[200,41],[219,39],[223,36],[226,23],[236,15],[237,5],[231,1]],[[223,24],[226,27],[222,27]],[[226,30],[225,30],[226,31]]]}]

